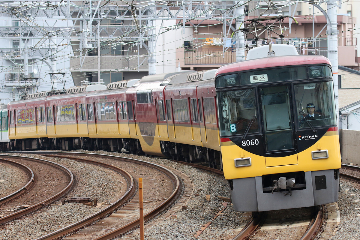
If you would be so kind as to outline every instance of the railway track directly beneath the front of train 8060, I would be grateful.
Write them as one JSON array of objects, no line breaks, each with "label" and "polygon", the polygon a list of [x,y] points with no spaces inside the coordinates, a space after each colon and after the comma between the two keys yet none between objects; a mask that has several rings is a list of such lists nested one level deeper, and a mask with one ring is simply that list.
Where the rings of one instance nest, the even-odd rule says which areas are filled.
[{"label": "railway track directly beneath the front of train 8060", "polygon": [[[336,206],[327,204],[316,209],[293,209],[290,213],[291,217],[285,210],[262,213],[257,218],[253,218],[233,240],[328,239],[333,235],[337,222]],[[328,216],[329,214],[332,216]]]}]

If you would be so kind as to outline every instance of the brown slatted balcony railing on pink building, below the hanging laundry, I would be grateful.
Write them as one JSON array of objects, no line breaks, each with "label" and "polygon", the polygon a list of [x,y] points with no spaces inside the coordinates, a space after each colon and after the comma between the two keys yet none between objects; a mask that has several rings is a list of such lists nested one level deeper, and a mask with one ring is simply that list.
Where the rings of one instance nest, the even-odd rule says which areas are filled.
[{"label": "brown slatted balcony railing on pink building, below the hanging laundry", "polygon": [[236,61],[235,51],[226,51],[215,49],[189,49],[184,52],[185,64],[226,64]]}]

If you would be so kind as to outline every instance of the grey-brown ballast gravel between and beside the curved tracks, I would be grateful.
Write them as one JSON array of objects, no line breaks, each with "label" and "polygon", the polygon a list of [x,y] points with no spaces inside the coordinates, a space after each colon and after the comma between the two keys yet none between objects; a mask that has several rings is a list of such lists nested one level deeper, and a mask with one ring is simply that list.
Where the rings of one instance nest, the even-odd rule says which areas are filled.
[{"label": "grey-brown ballast gravel between and beside the curved tracks", "polygon": [[[78,151],[87,152],[82,150]],[[204,224],[212,221],[219,210],[224,207],[222,205],[223,200],[217,196],[229,197],[228,185],[223,176],[203,172],[199,169],[167,159],[148,158],[124,153],[107,153],[104,151],[96,151],[93,153],[136,158],[175,168],[185,173],[193,181],[195,190],[199,189],[199,191],[195,191],[199,195],[192,196],[186,203],[186,209],[179,209],[175,219],[168,217],[161,223],[145,231],[145,239],[147,240],[194,240],[196,231],[201,230]],[[32,155],[31,157],[44,158],[46,160],[52,159],[68,167],[71,171],[76,171],[76,175],[81,177],[72,194],[76,193],[79,197],[87,196],[97,198],[98,202],[104,202],[104,205],[100,208],[105,207],[106,204],[110,204],[113,199],[117,197],[117,188],[121,185],[120,182],[117,181],[121,180],[112,171],[106,171],[95,166],[89,167],[89,164],[77,163],[68,159],[54,159],[40,157],[39,155]],[[13,185],[16,186],[19,184],[17,182],[18,179],[13,177],[11,171],[6,171],[6,169],[2,171],[2,169],[0,169],[0,173],[1,178],[12,176]],[[146,179],[144,179],[144,181],[146,181]],[[103,184],[108,182],[112,182],[113,184]],[[342,184],[343,186],[339,193],[338,201],[341,212],[341,222],[333,239],[357,240],[360,239],[360,210],[357,209],[360,207],[360,203],[356,201],[356,199],[360,199],[359,186],[353,186],[348,183],[345,184],[344,182],[342,182]],[[0,194],[2,194],[1,188]],[[211,196],[210,201],[206,200],[206,195]],[[99,209],[95,207],[88,207],[76,203],[49,206],[46,209],[42,209],[42,211],[25,216],[12,223],[0,225],[0,240],[36,239],[37,237],[80,221],[98,210]],[[232,239],[250,219],[251,213],[234,212],[232,204],[229,203],[223,212],[212,221],[211,225],[206,228],[197,239]],[[140,239],[140,236],[124,236],[118,239],[137,240]],[[279,239],[285,240],[287,236],[279,236]]]}]

